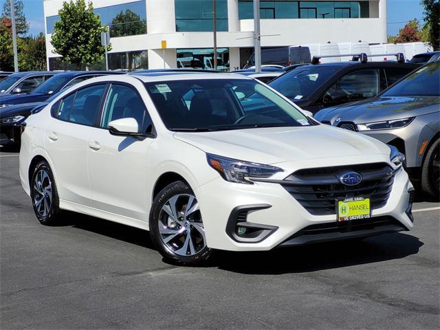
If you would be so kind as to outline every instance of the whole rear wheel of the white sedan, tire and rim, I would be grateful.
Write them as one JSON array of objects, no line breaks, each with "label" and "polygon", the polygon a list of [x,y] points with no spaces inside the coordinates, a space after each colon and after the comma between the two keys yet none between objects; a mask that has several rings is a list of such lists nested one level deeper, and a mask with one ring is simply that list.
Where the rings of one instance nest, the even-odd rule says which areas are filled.
[{"label": "whole rear wheel of the white sedan, tire and rim", "polygon": [[54,175],[49,164],[39,162],[32,173],[30,197],[36,218],[42,225],[53,225],[60,214],[60,201],[56,190]]}]

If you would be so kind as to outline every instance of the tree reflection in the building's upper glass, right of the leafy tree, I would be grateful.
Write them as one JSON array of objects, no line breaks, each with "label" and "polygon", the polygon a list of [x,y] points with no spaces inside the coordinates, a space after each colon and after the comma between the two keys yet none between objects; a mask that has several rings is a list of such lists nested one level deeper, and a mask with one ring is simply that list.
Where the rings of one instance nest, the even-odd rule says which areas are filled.
[{"label": "tree reflection in the building's upper glass, right of the leafy tree", "polygon": [[135,34],[145,34],[146,23],[141,21],[140,15],[132,10],[125,10],[117,14],[111,21],[111,36],[133,36]]}]

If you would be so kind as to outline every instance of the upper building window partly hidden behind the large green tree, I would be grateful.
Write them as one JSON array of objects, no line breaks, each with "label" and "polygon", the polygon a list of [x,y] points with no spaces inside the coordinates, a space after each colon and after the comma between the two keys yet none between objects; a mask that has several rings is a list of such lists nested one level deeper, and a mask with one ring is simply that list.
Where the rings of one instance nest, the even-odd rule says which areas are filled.
[{"label": "upper building window partly hidden behind the large green tree", "polygon": [[[94,8],[99,15],[102,25],[108,25],[110,36],[133,36],[146,34],[146,4],[145,0]],[[47,33],[54,33],[55,21],[60,17],[46,17]]]}]

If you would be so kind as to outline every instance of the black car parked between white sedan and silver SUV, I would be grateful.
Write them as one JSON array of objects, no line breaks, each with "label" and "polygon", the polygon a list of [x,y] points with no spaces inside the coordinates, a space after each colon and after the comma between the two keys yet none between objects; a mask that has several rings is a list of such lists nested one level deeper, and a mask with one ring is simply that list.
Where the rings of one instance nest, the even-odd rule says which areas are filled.
[{"label": "black car parked between white sedan and silver SUV", "polygon": [[269,85],[311,113],[339,104],[373,98],[419,65],[349,61],[304,65]]}]

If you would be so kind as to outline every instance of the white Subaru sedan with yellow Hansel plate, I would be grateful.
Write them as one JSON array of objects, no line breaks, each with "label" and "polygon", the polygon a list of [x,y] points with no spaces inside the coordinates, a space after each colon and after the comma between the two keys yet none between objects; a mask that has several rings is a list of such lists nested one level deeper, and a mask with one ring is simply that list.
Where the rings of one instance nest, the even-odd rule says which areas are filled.
[{"label": "white Subaru sedan with yellow Hansel plate", "polygon": [[92,78],[22,131],[21,183],[41,223],[71,210],[149,230],[175,263],[412,228],[397,149],[245,76]]}]

